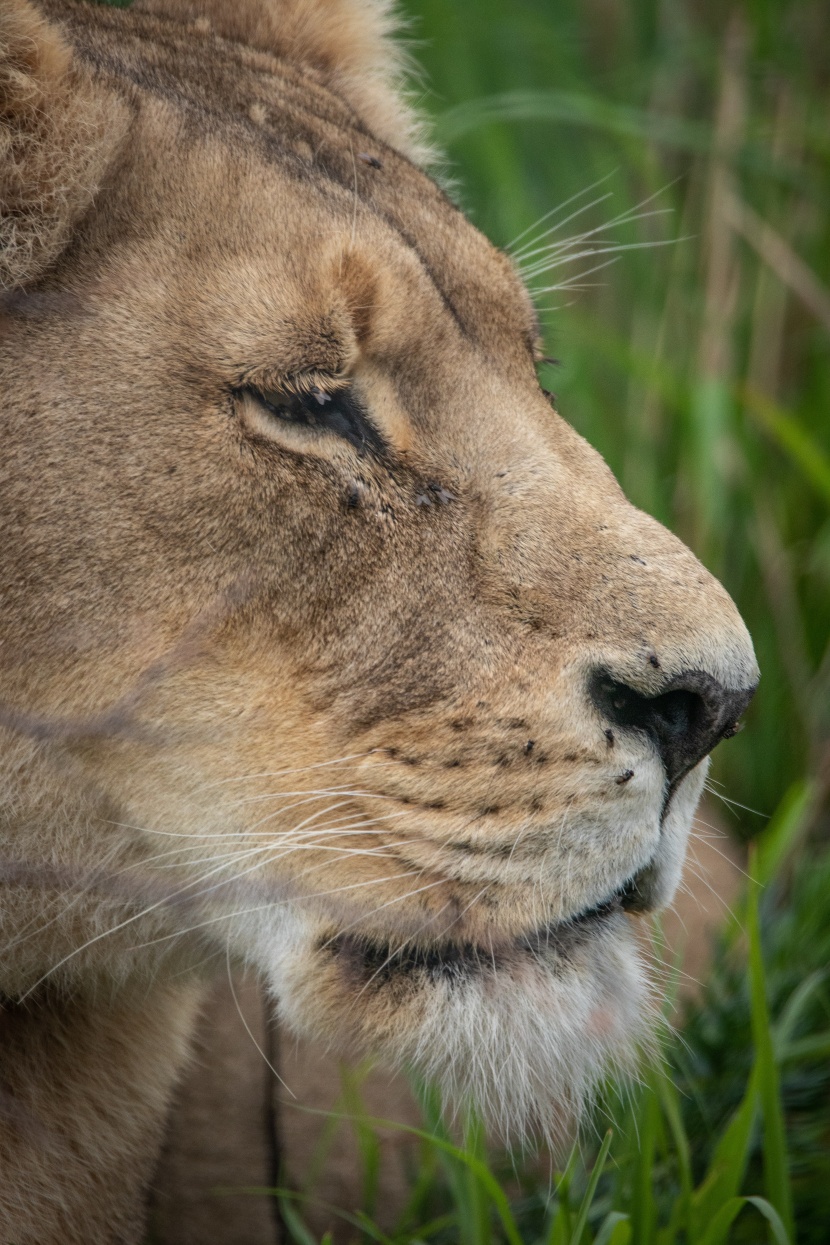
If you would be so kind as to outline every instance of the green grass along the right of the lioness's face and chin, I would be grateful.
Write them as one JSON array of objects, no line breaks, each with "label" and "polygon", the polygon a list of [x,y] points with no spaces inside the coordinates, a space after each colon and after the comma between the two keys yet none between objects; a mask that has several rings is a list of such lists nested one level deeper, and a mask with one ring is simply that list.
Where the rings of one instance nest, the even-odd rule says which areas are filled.
[{"label": "green grass along the right of the lioness's face and chin", "polygon": [[[385,1235],[367,1195],[355,1239],[824,1245],[830,12],[821,0],[404,9],[453,193],[499,245],[521,235],[525,261],[581,254],[530,279],[565,286],[538,299],[561,360],[543,383],[749,624],[762,688],[713,783],[758,810],[729,806],[735,833],[759,835],[765,889],[760,921],[754,885],[724,931],[681,1038],[625,1101],[609,1091],[565,1173],[494,1157],[473,1125],[455,1148],[427,1098],[403,1220]],[[536,250],[549,243],[564,245]],[[378,1142],[360,1112],[355,1127],[371,1191]],[[309,1245],[301,1199],[281,1203],[290,1239]]]}]

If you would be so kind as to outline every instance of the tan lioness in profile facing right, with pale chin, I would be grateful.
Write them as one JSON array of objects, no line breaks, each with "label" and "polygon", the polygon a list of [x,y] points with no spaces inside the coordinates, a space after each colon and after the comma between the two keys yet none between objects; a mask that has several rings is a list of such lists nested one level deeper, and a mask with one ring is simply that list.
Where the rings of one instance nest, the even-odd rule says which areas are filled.
[{"label": "tan lioness in profile facing right, with pale chin", "polygon": [[757,667],[539,388],[371,0],[0,0],[2,1241],[133,1241],[205,961],[556,1133]]}]

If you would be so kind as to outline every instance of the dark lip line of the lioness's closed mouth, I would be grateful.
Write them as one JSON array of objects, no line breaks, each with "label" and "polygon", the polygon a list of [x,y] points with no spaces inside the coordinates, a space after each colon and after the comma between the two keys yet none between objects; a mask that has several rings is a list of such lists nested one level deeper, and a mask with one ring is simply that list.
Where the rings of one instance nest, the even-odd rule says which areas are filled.
[{"label": "dark lip line of the lioness's closed mouth", "polygon": [[596,926],[607,924],[625,909],[637,910],[636,898],[632,901],[637,895],[637,876],[632,875],[601,903],[510,940],[394,945],[363,934],[337,934],[326,940],[326,947],[341,969],[363,987],[368,984],[381,987],[393,980],[413,977],[459,982],[483,975],[515,974],[523,962],[567,961],[590,940]]}]

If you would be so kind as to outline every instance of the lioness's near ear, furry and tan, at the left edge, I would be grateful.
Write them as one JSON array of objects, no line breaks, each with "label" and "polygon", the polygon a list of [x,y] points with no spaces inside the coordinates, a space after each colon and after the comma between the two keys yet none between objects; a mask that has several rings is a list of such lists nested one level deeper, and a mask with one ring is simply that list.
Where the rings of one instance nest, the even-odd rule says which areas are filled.
[{"label": "lioness's near ear, furry and tan, at the left edge", "polygon": [[35,280],[88,208],[127,126],[26,0],[0,4],[0,289]]}]

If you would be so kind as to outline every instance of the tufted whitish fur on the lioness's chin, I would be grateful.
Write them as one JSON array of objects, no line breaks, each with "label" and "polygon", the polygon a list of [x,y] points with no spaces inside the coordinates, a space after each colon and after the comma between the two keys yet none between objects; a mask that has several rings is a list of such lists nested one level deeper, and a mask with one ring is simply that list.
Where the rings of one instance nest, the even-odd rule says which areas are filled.
[{"label": "tufted whitish fur on the lioness's chin", "polygon": [[386,950],[326,937],[302,918],[291,925],[276,955],[271,942],[281,1018],[340,1051],[413,1068],[504,1138],[565,1142],[599,1082],[633,1064],[652,1027],[645,972],[618,911],[533,947],[513,944],[494,956],[467,949],[460,964],[406,949],[386,962]]}]

